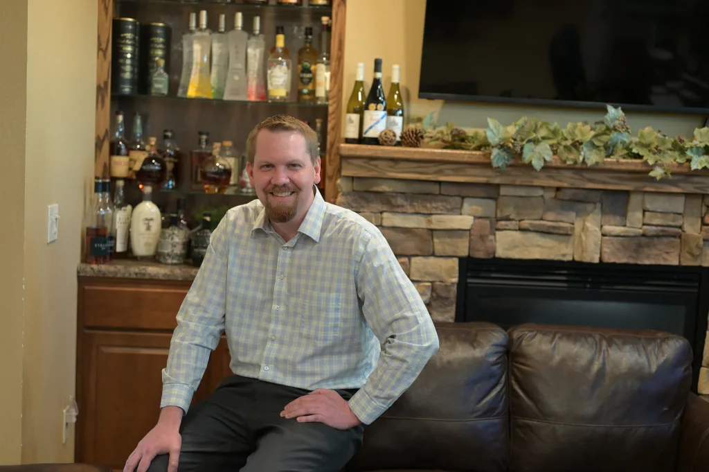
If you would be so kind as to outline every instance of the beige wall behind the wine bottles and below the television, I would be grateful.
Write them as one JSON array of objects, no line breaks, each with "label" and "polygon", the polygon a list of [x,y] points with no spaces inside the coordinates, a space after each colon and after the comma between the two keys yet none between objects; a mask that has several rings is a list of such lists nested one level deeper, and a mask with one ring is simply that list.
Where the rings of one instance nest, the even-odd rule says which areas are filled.
[{"label": "beige wall behind the wine bottles and below the television", "polygon": [[[454,121],[464,128],[485,128],[487,118],[510,124],[521,116],[536,116],[566,126],[569,121],[596,121],[603,110],[552,109],[537,106],[503,106],[496,104],[462,104],[418,98],[421,67],[421,45],[425,0],[348,0],[345,35],[345,93],[343,109],[350,98],[357,62],[364,62],[365,87],[372,84],[374,58],[383,61],[384,92],[389,90],[391,65],[401,65],[401,87],[406,100],[407,121],[412,116],[425,116],[435,111],[437,122]],[[372,12],[376,11],[376,15]],[[344,122],[344,110],[342,112]],[[661,129],[670,136],[691,136],[696,126],[703,126],[698,116],[627,113],[628,124],[635,132],[644,126]]]}]

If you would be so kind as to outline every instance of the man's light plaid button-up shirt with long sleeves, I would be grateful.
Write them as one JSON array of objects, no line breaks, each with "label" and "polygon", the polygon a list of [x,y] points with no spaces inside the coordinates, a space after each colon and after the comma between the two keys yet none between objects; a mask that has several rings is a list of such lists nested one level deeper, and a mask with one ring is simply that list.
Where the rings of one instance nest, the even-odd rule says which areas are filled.
[{"label": "man's light plaid button-up shirt with long sleeves", "polygon": [[233,373],[308,390],[359,388],[350,408],[364,424],[438,349],[430,315],[379,229],[317,191],[291,241],[259,200],[230,209],[177,322],[161,407],[184,411],[223,332]]}]

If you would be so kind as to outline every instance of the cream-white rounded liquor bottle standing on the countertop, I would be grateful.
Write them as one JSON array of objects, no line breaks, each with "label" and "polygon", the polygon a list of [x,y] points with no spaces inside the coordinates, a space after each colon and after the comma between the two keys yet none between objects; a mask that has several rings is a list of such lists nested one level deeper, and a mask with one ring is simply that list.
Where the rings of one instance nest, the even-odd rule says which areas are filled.
[{"label": "cream-white rounded liquor bottle standing on the countertop", "polygon": [[145,185],[143,201],[135,205],[130,216],[130,249],[136,259],[151,260],[155,256],[161,220],[160,208],[152,202],[152,187]]}]

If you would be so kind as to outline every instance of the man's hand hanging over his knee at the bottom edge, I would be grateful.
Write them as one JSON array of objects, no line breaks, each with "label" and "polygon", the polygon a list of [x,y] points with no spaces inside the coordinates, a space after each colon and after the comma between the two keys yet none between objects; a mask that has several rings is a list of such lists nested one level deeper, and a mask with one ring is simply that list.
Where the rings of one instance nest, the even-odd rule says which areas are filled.
[{"label": "man's hand hanging over his knee at the bottom edge", "polygon": [[159,454],[169,454],[167,472],[177,472],[177,461],[182,447],[182,437],[179,435],[182,414],[180,407],[164,407],[155,427],[145,434],[135,451],[128,456],[123,472],[145,472],[152,459]]}]

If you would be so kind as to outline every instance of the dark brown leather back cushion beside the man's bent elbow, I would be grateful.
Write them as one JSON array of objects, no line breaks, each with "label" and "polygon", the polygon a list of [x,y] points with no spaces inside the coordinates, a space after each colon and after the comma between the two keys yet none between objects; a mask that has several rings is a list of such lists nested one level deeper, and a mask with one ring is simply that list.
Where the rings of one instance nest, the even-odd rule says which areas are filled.
[{"label": "dark brown leather back cushion beside the man's bent elbow", "polygon": [[477,322],[436,323],[436,329],[438,352],[364,428],[348,471],[507,470],[506,332]]}]

